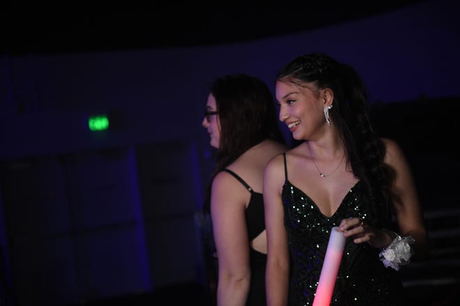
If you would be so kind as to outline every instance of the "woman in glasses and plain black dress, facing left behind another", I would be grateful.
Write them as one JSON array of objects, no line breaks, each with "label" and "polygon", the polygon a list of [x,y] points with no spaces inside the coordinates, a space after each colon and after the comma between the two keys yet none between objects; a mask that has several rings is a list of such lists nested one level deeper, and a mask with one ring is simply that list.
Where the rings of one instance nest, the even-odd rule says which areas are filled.
[{"label": "woman in glasses and plain black dress, facing left behind another", "polygon": [[286,151],[275,100],[256,77],[219,77],[210,86],[202,125],[217,149],[208,194],[217,305],[266,305],[263,171],[268,160]]}]

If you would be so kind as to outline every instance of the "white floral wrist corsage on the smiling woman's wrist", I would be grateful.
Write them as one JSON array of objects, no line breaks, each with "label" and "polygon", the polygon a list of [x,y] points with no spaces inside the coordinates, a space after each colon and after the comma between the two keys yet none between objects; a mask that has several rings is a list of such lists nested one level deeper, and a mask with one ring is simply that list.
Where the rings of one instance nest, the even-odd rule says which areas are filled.
[{"label": "white floral wrist corsage on the smiling woman's wrist", "polygon": [[411,244],[415,240],[411,236],[401,237],[398,234],[392,232],[396,235],[396,238],[392,241],[385,250],[380,252],[379,257],[383,262],[385,267],[394,268],[394,270],[399,270],[399,266],[404,266],[409,263],[411,259],[413,250]]}]

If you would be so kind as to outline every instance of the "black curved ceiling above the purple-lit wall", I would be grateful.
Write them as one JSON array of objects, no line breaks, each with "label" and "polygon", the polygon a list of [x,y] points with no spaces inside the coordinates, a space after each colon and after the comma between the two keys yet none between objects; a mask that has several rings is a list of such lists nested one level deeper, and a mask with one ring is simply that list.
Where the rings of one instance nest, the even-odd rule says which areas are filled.
[{"label": "black curved ceiling above the purple-lit wall", "polygon": [[[308,31],[387,13],[422,1],[345,1],[263,7],[222,3],[144,6],[136,10],[3,10],[2,54],[102,52],[236,43]],[[226,7],[227,6],[227,7]],[[45,11],[46,12],[46,11]]]}]

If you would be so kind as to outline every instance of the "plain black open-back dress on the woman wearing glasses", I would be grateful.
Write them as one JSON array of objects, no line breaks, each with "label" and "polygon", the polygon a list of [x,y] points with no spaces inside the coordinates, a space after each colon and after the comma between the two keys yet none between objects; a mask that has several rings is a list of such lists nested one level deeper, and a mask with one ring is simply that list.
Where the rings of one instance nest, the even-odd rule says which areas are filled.
[{"label": "plain black open-back dress on the woman wearing glasses", "polygon": [[[251,192],[251,199],[246,208],[246,224],[249,240],[259,236],[265,230],[265,219],[263,215],[263,196],[260,192],[254,192],[243,178],[229,169],[224,169],[233,175],[245,188]],[[249,295],[247,296],[247,306],[265,306],[265,268],[267,264],[267,255],[257,252],[250,246],[250,266],[251,266],[251,284]]]}]

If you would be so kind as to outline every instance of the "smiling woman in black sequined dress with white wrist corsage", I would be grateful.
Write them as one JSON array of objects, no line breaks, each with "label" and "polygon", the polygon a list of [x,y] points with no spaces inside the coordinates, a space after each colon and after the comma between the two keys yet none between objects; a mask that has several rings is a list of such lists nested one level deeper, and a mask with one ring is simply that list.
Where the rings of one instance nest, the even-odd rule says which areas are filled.
[{"label": "smiling woman in black sequined dress with white wrist corsage", "polygon": [[312,305],[332,227],[346,242],[330,305],[406,305],[398,270],[427,255],[427,231],[408,162],[374,132],[358,73],[306,54],[275,89],[279,120],[303,141],[264,173],[268,305]]}]

